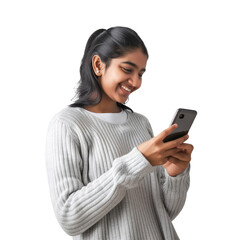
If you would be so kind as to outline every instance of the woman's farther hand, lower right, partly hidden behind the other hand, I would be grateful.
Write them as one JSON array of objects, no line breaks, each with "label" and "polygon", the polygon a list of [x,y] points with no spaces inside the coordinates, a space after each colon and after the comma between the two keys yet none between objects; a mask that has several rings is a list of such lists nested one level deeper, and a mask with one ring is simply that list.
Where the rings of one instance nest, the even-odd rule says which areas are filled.
[{"label": "woman's farther hand, lower right, partly hidden behind the other hand", "polygon": [[177,148],[179,148],[180,151],[172,156],[169,156],[168,161],[165,164],[163,164],[168,174],[172,177],[181,174],[188,167],[191,161],[193,145],[183,143]]}]

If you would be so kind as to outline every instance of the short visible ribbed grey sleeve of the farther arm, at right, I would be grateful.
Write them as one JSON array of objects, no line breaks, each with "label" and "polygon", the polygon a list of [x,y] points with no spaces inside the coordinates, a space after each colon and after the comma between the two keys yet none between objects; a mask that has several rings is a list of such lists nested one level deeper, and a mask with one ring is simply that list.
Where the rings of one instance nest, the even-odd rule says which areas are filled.
[{"label": "short visible ribbed grey sleeve of the farther arm, at right", "polygon": [[163,201],[171,220],[176,218],[185,204],[190,184],[189,170],[190,165],[180,175],[171,177],[162,166],[160,167]]}]

